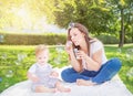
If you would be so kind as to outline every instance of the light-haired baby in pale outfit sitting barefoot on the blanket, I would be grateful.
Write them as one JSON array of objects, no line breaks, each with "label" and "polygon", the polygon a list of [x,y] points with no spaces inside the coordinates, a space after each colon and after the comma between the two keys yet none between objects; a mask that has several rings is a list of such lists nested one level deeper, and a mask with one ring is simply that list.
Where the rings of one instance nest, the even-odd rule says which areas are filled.
[{"label": "light-haired baby in pale outfit sitting barefoot on the blanket", "polygon": [[52,70],[49,61],[49,49],[45,45],[38,45],[35,49],[34,63],[28,71],[28,78],[32,81],[31,88],[37,93],[55,93],[65,92],[71,89],[62,85],[58,79],[59,74]]}]

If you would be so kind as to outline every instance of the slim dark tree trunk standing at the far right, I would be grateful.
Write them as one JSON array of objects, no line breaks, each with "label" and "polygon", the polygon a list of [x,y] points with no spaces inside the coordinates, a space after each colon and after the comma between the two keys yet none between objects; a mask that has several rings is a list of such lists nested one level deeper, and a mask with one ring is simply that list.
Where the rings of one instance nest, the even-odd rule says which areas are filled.
[{"label": "slim dark tree trunk standing at the far right", "polygon": [[120,31],[120,43],[119,47],[122,47],[124,44],[124,13],[123,8],[121,9],[121,31]]}]

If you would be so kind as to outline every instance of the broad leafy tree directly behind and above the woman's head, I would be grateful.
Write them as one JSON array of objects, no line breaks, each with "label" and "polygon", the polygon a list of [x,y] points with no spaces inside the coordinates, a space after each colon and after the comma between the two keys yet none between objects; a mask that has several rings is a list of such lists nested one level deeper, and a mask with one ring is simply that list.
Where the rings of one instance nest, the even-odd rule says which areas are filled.
[{"label": "broad leafy tree directly behind and above the woman's head", "polygon": [[[70,22],[80,22],[89,28],[90,32],[99,35],[110,30],[108,24],[113,18],[110,10],[104,8],[102,0],[53,0],[54,23],[68,28]],[[49,9],[50,10],[50,9]],[[49,18],[51,20],[51,18]]]}]

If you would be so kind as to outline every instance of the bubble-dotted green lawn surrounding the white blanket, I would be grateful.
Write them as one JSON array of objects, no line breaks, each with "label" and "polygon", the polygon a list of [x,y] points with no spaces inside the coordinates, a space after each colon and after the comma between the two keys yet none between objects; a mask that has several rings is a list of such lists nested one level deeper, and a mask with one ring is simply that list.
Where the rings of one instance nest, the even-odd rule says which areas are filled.
[{"label": "bubble-dotted green lawn surrounding the white blanket", "polygon": [[[59,50],[55,46],[49,46],[49,62],[53,67],[63,67],[69,64],[63,46],[59,46]],[[133,49],[133,44],[125,44],[121,50],[117,49],[117,45],[109,44],[105,45],[105,54],[108,58],[119,57],[122,61],[119,75],[133,93],[133,53],[131,58],[126,57],[127,49]],[[27,71],[34,62],[34,46],[32,45],[0,45],[0,92],[16,83],[25,81]]]}]

